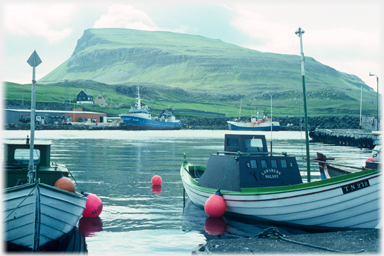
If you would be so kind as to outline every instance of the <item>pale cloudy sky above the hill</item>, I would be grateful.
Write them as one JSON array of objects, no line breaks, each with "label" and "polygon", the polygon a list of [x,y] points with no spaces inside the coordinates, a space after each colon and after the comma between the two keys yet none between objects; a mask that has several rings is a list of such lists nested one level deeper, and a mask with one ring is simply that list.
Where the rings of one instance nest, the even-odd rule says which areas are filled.
[{"label": "pale cloudy sky above the hill", "polygon": [[36,69],[39,80],[71,56],[88,28],[172,31],[299,55],[295,31],[301,27],[305,56],[357,75],[376,90],[369,72],[380,79],[384,74],[382,2],[3,0],[1,80],[29,83],[32,68],[26,61],[34,50],[43,61]]}]

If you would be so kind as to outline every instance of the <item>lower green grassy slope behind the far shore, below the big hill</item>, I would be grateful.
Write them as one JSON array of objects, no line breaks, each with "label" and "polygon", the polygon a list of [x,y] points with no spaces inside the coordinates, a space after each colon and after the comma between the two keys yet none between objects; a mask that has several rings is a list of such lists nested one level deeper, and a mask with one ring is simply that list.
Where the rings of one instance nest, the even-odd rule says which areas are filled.
[{"label": "lower green grassy slope behind the far shore, below the big hill", "polygon": [[[4,83],[4,99],[18,101],[19,107],[29,108],[31,99],[31,85]],[[108,98],[109,107],[76,104],[76,95],[86,88],[94,96],[100,92]],[[143,103],[151,109],[162,110],[171,106],[177,109],[192,109],[225,114],[227,117],[239,115],[240,98],[223,99],[217,95],[207,93],[188,92],[179,88],[166,87],[158,89],[144,85],[141,89]],[[108,116],[118,116],[127,113],[130,106],[135,103],[136,85],[106,85],[93,81],[73,81],[56,84],[37,84],[36,101],[40,103],[62,103],[69,110],[83,108],[96,112],[105,112]],[[273,97],[273,116],[299,116],[303,115],[302,96],[300,92],[292,95]],[[308,114],[310,116],[337,116],[359,115],[360,102],[356,100],[338,100],[340,95],[330,91],[322,94],[308,93]],[[22,101],[24,105],[21,106]],[[363,101],[363,115],[376,114],[376,102]],[[255,104],[243,103],[241,116],[250,116],[255,112],[271,114],[270,96],[260,95],[260,100]]]}]

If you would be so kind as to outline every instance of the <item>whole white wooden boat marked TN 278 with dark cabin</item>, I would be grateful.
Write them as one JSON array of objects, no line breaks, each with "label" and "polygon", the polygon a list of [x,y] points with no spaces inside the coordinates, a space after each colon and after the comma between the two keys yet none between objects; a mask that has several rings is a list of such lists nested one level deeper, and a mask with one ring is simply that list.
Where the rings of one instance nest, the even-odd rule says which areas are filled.
[{"label": "whole white wooden boat marked TN 278 with dark cabin", "polygon": [[199,207],[219,192],[227,215],[325,229],[380,228],[380,176],[368,169],[303,182],[295,157],[268,152],[265,136],[250,134],[226,134],[206,167],[184,155],[180,168]]}]

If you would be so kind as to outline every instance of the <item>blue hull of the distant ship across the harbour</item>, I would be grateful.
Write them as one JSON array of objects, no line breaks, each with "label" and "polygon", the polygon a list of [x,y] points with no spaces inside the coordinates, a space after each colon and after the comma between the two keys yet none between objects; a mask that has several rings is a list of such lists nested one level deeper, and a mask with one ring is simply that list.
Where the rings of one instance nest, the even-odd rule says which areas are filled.
[{"label": "blue hull of the distant ship across the harbour", "polygon": [[124,124],[130,130],[179,130],[180,122],[162,122],[151,119],[130,116],[129,114],[120,115]]}]

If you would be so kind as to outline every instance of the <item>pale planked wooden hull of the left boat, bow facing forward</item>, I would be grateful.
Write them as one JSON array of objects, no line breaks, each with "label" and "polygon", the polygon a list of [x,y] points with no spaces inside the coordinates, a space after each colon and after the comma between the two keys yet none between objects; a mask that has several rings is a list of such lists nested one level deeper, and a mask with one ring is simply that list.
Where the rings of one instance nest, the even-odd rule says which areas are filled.
[{"label": "pale planked wooden hull of the left boat, bow facing forward", "polygon": [[73,230],[87,199],[39,182],[5,189],[4,239],[38,251]]}]

